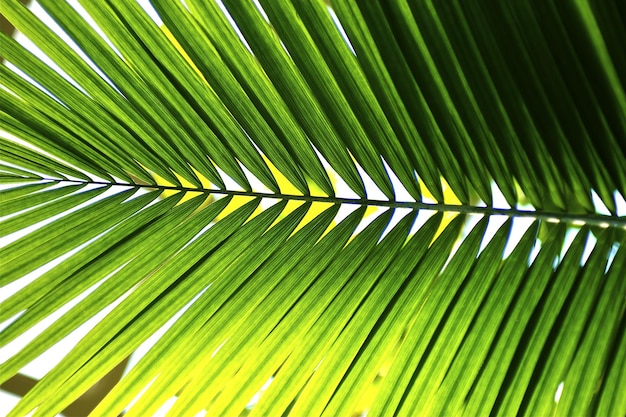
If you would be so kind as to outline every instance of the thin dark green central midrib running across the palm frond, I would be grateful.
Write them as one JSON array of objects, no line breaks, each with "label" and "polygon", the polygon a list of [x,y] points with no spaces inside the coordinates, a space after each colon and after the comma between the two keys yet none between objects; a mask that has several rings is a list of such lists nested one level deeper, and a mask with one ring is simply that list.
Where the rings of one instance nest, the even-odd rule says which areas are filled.
[{"label": "thin dark green central midrib running across the palm frond", "polygon": [[[29,179],[29,178],[24,178]],[[32,178],[40,179],[41,181],[54,181],[57,183],[72,183],[72,184],[85,184],[96,186],[109,186],[109,187],[133,187],[133,188],[146,188],[157,189],[162,191],[178,191],[178,192],[196,192],[204,194],[220,194],[229,196],[244,196],[244,197],[258,197],[258,198],[271,198],[279,200],[295,200],[295,201],[307,201],[307,202],[320,202],[329,204],[353,204],[359,206],[374,206],[374,207],[387,207],[387,208],[408,208],[417,210],[433,210],[441,212],[455,212],[463,214],[481,214],[481,215],[497,215],[507,217],[526,217],[537,220],[544,220],[552,223],[570,223],[574,226],[600,226],[600,227],[617,227],[626,229],[626,216],[618,215],[605,215],[599,213],[568,213],[558,211],[544,211],[544,210],[520,210],[516,208],[497,208],[489,206],[473,206],[466,204],[443,204],[443,203],[424,203],[416,201],[396,201],[396,200],[377,200],[377,199],[361,199],[361,198],[346,198],[346,197],[327,197],[327,196],[315,196],[315,195],[297,195],[297,194],[282,194],[271,192],[257,192],[257,191],[236,191],[236,190],[223,190],[218,188],[193,188],[173,185],[158,185],[158,184],[128,184],[121,182],[106,182],[106,181],[84,181],[84,180],[68,180],[58,178]]]}]

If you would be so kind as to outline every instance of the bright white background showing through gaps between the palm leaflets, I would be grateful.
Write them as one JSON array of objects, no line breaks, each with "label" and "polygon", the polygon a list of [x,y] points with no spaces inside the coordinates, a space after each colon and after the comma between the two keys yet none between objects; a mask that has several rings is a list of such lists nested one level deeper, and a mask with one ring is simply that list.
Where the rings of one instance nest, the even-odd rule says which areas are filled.
[{"label": "bright white background showing through gaps between the palm leaflets", "polygon": [[[156,14],[156,12],[154,12],[152,7],[149,5],[148,0],[139,0],[139,2],[150,13],[150,15],[153,17],[153,19],[156,22],[160,22],[160,19],[159,19],[158,15]],[[76,7],[76,5],[77,5],[77,1],[76,0],[70,0],[69,3],[74,5],[74,7]],[[39,7],[38,4],[33,3],[33,6],[31,7],[31,9],[46,24],[48,24],[51,27],[58,27],[58,26],[56,26],[56,24],[54,22],[52,22],[50,20],[50,18],[47,16],[46,13],[42,13],[42,9]],[[80,8],[80,7],[77,7],[77,9],[78,10],[82,10],[82,8]],[[89,21],[92,21],[88,16],[86,16],[86,17],[87,17],[87,19]],[[336,19],[334,14],[333,14],[333,18]],[[67,37],[66,34],[61,32],[60,35],[64,39],[69,40],[69,38]],[[345,37],[345,33],[342,33],[342,35],[344,35],[344,37]],[[59,72],[62,73],[62,71],[60,71],[60,69],[58,69],[58,67],[53,62],[51,62],[45,55],[40,53],[38,48],[34,47],[34,45],[32,43],[30,43],[24,36],[22,36],[19,33],[16,33],[16,39],[18,39],[21,43],[26,45],[33,52],[37,53],[48,65],[50,65],[53,68],[56,68],[57,70],[59,70]],[[84,55],[83,55],[83,57],[84,57]],[[86,60],[86,61],[88,61],[88,60]],[[8,136],[5,132],[0,132],[0,134],[2,134],[5,137]],[[362,174],[364,174],[362,170],[360,170],[360,172]],[[386,200],[386,197],[383,195],[382,192],[380,192],[380,190],[377,189],[377,187],[373,184],[373,182],[366,175],[363,175],[363,176],[365,178],[366,187],[368,189],[369,197],[373,198],[373,199]],[[410,197],[409,193],[406,192],[406,190],[404,189],[404,187],[402,187],[402,185],[397,180],[397,178],[395,178],[395,175],[392,174],[391,176],[392,176],[392,179],[393,179],[394,189],[396,190],[398,200],[400,200],[400,201],[413,201],[413,199]],[[254,183],[253,185],[256,184],[255,189],[257,189],[259,191],[264,191],[265,190],[265,187],[260,185],[260,182],[258,182],[258,180],[257,181],[252,181],[252,182]],[[239,187],[237,187],[237,188],[239,188]],[[338,180],[337,188],[338,188],[338,190],[337,190],[338,193],[337,194],[339,196],[348,197],[348,198],[356,197],[356,194],[353,193],[345,185],[345,183],[343,183],[343,181],[341,181],[341,180]],[[601,212],[603,214],[608,214],[608,210],[606,210],[606,208],[603,207],[602,203],[597,198],[596,198],[596,203],[599,203],[599,204],[597,204],[599,212]],[[626,214],[626,202],[624,201],[623,198],[620,198],[620,201],[618,203],[619,203],[618,204],[618,210],[619,210],[620,215],[625,215]],[[495,207],[501,207],[501,208],[508,208],[508,205],[507,205],[506,201],[504,200],[504,197],[502,196],[500,191],[495,186],[494,186],[494,206]],[[341,217],[346,216],[347,214],[349,214],[349,212],[351,212],[355,208],[356,208],[356,206],[346,207],[345,209],[343,209],[341,211],[340,216]],[[395,216],[394,220],[392,221],[392,224],[395,224],[397,221],[399,221],[399,219],[402,216],[404,216],[406,213],[407,213],[407,211],[398,210],[397,216]],[[432,212],[423,211],[423,213],[421,213],[419,218],[418,218],[417,224],[418,225],[423,224],[423,222],[426,221],[426,219],[430,215],[432,215]],[[373,219],[373,218],[374,218],[374,216],[371,217],[371,219]],[[475,218],[476,218],[476,221],[478,221],[480,216],[475,216]],[[485,239],[485,244],[488,242],[488,240],[491,238],[491,236],[493,236],[493,233],[495,233],[495,231],[498,229],[499,225],[501,225],[505,220],[506,219],[503,216],[494,216],[493,221],[490,222],[490,225],[489,225],[489,230],[490,231],[488,232],[488,237]],[[516,219],[515,220],[516,223],[515,223],[515,227],[513,229],[513,236],[511,238],[511,241],[512,241],[511,243],[513,245],[511,247],[513,247],[515,245],[515,243],[517,243],[517,241],[521,238],[523,232],[528,228],[528,226],[532,223],[532,221],[533,221],[532,219]],[[41,226],[41,225],[39,225],[39,226]],[[10,240],[14,240],[14,239],[16,239],[18,237],[19,237],[18,235],[11,236]],[[571,237],[573,238],[573,235]],[[0,239],[0,246],[4,246],[7,243],[8,243],[8,241],[6,239],[4,239],[4,238]],[[589,249],[591,249],[591,246],[589,247]],[[47,268],[50,268],[50,267],[51,267],[51,265],[47,265]],[[21,288],[27,282],[30,282],[32,279],[35,279],[37,274],[40,274],[42,272],[43,271],[40,269],[38,271],[35,271],[33,274],[29,274],[29,278],[21,279],[17,283],[14,283],[14,284],[11,284],[11,285],[3,287],[1,289],[1,291],[0,291],[0,301],[8,298],[11,294],[13,294],[15,291],[19,290],[19,288]],[[92,287],[90,290],[88,290],[88,292],[82,294],[79,297],[79,299],[74,300],[71,304],[65,306],[63,309],[59,310],[58,312],[53,314],[51,317],[49,317],[49,319],[47,319],[44,322],[40,323],[40,325],[38,325],[35,328],[33,328],[26,335],[24,335],[24,337],[20,337],[16,341],[17,343],[11,343],[7,347],[0,349],[0,360],[3,360],[3,358],[9,358],[10,356],[12,356],[16,352],[18,352],[26,343],[28,343],[29,340],[32,340],[32,338],[34,336],[36,336],[38,333],[43,331],[43,329],[45,329],[47,326],[49,326],[50,323],[52,323],[54,320],[56,320],[58,317],[60,317],[64,312],[69,310],[73,305],[78,303],[80,301],[80,299],[86,297],[89,292],[95,290],[97,285],[99,285],[99,284],[96,284],[94,287]],[[107,308],[106,310],[104,310],[100,314],[98,314],[96,317],[94,317],[91,320],[89,320],[87,323],[85,323],[83,326],[81,326],[81,328],[77,329],[70,336],[65,338],[62,342],[58,343],[53,348],[51,348],[49,351],[47,351],[44,355],[42,355],[38,359],[34,360],[32,363],[27,365],[21,372],[23,374],[25,374],[25,375],[29,375],[29,376],[37,378],[37,379],[40,379],[41,377],[43,377],[43,375],[45,375],[45,373],[47,373],[56,363],[58,363],[63,358],[63,356],[67,353],[67,351],[69,351],[83,337],[83,335],[85,335],[89,331],[89,329],[91,329],[99,320],[101,320],[113,307],[114,307],[114,305],[109,306],[109,308]],[[173,321],[174,321],[174,319],[171,320],[170,325],[173,323]],[[7,325],[8,325],[7,322],[0,323],[0,329],[6,327]],[[161,333],[163,333],[164,331],[165,331],[165,329],[163,329]],[[158,336],[155,335],[155,337],[153,337],[150,342],[145,343],[142,346],[142,348],[144,350],[148,349],[151,346],[151,343],[154,343],[154,341],[156,341],[157,338],[158,338]],[[136,356],[140,356],[140,355],[136,355]],[[136,363],[136,361],[137,361],[136,357],[131,359],[131,362],[135,362]],[[18,399],[19,399],[19,397],[16,397],[16,396],[14,396],[12,394],[9,394],[9,393],[7,393],[7,392],[5,392],[3,390],[0,390],[0,415],[5,415],[6,413],[8,413],[8,411],[11,410],[14,407],[14,405],[16,404]],[[166,406],[164,406],[160,410],[160,412],[157,414],[157,416],[165,415],[166,410],[169,407],[171,407],[171,405],[172,404],[166,404]]]}]

